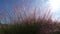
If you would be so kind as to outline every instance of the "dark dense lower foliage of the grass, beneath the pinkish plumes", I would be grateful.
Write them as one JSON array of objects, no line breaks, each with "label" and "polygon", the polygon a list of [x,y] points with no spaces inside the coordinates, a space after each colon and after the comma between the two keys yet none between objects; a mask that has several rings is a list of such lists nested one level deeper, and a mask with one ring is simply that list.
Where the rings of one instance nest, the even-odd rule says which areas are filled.
[{"label": "dark dense lower foliage of the grass, beneath the pinkish plumes", "polygon": [[60,34],[60,26],[54,22],[49,23],[49,21],[1,26],[0,34]]}]

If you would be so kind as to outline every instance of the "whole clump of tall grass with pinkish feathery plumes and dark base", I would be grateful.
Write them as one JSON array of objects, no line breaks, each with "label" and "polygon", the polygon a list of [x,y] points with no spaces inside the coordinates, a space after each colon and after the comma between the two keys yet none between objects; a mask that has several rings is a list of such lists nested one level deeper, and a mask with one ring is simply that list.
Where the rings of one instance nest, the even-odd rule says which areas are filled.
[{"label": "whole clump of tall grass with pinkish feathery plumes and dark base", "polygon": [[[7,12],[9,21],[4,17],[5,24],[0,24],[0,34],[60,34],[60,25],[52,21],[50,9],[42,11],[40,7],[37,11],[34,6],[28,6],[27,9],[14,6],[12,15]],[[39,16],[36,12],[39,12]]]}]

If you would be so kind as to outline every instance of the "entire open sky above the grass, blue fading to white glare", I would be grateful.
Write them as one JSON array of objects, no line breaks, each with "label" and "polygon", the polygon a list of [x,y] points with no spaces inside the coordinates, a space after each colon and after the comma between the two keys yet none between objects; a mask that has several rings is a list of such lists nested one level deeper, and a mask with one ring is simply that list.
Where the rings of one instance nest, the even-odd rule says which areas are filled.
[{"label": "entire open sky above the grass, blue fading to white glare", "polygon": [[[29,5],[36,6],[36,0],[24,0],[24,7],[28,7]],[[14,10],[13,7],[22,7],[22,0],[0,0],[0,19],[5,17],[7,13],[13,16]],[[37,6],[41,6],[44,9],[47,5],[51,5],[53,7],[53,13],[55,13],[54,18],[60,17],[60,1],[59,0],[38,0]],[[37,12],[38,13],[38,12]],[[9,17],[9,16],[8,16]],[[7,20],[8,20],[7,17]],[[2,19],[3,20],[3,19]]]}]

